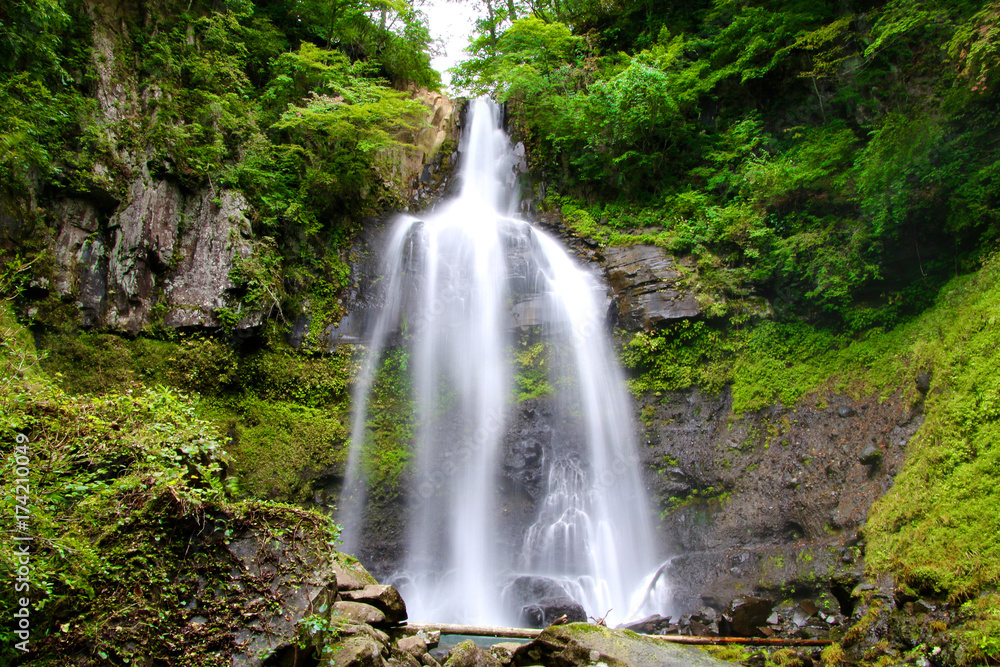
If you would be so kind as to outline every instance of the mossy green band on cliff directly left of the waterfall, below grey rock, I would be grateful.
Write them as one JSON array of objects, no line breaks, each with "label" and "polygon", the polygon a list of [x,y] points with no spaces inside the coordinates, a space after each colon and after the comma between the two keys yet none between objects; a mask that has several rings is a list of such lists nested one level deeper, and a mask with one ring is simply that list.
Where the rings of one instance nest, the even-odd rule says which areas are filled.
[{"label": "mossy green band on cliff directly left of the waterfall, below grey rock", "polygon": [[51,334],[46,369],[78,393],[103,394],[163,384],[211,400],[200,410],[231,438],[233,470],[244,493],[300,502],[321,474],[341,466],[349,387],[358,361],[350,346],[332,354],[287,347],[240,355],[221,341],[110,334]]}]

